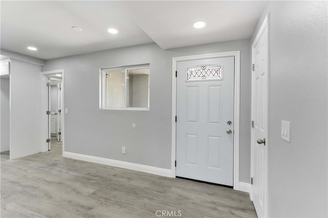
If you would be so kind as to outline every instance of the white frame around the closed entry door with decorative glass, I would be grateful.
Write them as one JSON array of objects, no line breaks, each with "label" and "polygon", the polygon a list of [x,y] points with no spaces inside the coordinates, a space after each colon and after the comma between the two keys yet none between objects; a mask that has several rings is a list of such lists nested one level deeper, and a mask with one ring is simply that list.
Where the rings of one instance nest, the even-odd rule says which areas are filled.
[{"label": "white frame around the closed entry door with decorative glass", "polygon": [[172,177],[176,177],[176,64],[178,61],[199,60],[218,57],[235,57],[235,81],[234,81],[234,173],[233,186],[239,190],[239,103],[240,103],[240,51],[220,52],[212,54],[191,55],[172,58]]}]

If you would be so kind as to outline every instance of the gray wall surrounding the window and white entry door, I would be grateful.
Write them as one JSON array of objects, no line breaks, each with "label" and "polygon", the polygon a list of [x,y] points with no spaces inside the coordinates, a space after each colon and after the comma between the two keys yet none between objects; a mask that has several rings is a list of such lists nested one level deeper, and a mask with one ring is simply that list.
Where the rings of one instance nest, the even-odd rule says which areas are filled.
[{"label": "gray wall surrounding the window and white entry door", "polygon": [[[172,57],[241,51],[240,181],[250,180],[250,40],[162,50],[155,43],[46,61],[65,70],[65,150],[171,168]],[[99,68],[150,63],[150,111],[99,110]],[[86,89],[88,87],[88,89]],[[132,128],[131,124],[137,127]],[[85,136],[85,137],[81,137]],[[129,137],[127,137],[129,136]],[[126,154],[121,155],[121,146]]]}]

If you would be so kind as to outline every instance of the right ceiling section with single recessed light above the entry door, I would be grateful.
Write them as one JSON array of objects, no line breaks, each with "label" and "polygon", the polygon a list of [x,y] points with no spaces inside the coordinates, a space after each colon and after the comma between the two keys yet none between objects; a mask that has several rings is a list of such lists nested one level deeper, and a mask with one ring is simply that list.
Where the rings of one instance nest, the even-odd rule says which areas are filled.
[{"label": "right ceiling section with single recessed light above the entry door", "polygon": [[[250,38],[264,1],[120,2],[162,49]],[[150,18],[151,17],[151,18]],[[195,21],[206,27],[195,29]]]}]

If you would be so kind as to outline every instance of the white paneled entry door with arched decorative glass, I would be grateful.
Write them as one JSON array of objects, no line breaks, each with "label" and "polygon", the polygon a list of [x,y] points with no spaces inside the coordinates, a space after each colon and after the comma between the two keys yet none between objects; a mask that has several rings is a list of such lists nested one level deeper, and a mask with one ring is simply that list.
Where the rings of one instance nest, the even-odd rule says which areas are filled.
[{"label": "white paneled entry door with arched decorative glass", "polygon": [[178,177],[233,186],[234,61],[177,62]]}]

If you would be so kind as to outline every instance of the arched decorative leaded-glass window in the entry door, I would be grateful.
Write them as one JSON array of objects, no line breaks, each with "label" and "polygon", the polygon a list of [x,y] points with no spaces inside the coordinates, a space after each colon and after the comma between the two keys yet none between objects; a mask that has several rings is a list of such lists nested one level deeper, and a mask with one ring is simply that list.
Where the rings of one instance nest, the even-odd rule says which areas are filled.
[{"label": "arched decorative leaded-glass window in the entry door", "polygon": [[187,69],[187,81],[193,80],[221,80],[221,66],[202,65]]}]

